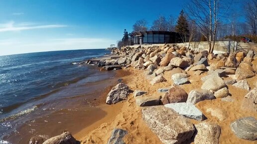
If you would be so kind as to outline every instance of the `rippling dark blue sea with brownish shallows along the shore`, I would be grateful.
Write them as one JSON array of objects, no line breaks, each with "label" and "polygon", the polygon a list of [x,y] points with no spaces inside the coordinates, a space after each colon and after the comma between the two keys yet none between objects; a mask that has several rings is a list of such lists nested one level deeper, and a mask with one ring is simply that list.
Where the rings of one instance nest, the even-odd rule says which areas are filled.
[{"label": "rippling dark blue sea with brownish shallows along the shore", "polygon": [[[79,62],[109,53],[92,49],[0,56],[0,144],[28,142],[13,140],[12,136],[20,136],[20,127],[56,109],[76,109],[74,103],[78,102],[67,98],[92,91],[90,82],[114,76],[113,72],[100,72],[96,66]],[[31,131],[27,137],[35,134],[34,129]]]}]

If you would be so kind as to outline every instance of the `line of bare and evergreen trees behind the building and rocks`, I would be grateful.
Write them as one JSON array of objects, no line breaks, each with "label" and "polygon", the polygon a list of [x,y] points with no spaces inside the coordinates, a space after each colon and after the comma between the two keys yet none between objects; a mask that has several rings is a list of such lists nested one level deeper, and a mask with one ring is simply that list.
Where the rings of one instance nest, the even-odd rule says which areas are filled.
[{"label": "line of bare and evergreen trees behind the building and rocks", "polygon": [[[137,20],[132,30],[175,31],[189,44],[207,41],[209,53],[213,52],[216,41],[225,38],[239,40],[238,37],[248,36],[257,40],[257,0],[244,0],[241,13],[233,2],[235,0],[191,0],[177,18],[159,15],[150,27],[145,19]],[[125,37],[127,42],[123,41]],[[125,33],[118,46],[129,45],[129,39],[129,33]]]}]

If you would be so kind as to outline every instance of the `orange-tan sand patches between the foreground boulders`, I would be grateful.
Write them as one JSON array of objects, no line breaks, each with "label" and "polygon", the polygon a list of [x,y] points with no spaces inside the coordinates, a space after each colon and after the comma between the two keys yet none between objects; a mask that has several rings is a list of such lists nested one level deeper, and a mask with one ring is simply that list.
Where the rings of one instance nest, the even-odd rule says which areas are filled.
[{"label": "orange-tan sand patches between the foreground boulders", "polygon": [[[163,95],[164,93],[157,92],[157,89],[169,87],[173,84],[170,76],[171,72],[164,72],[164,77],[167,79],[166,82],[151,85],[149,80],[145,78],[145,75],[143,74],[144,71],[135,70],[133,68],[128,68],[124,71],[129,72],[129,75],[122,77],[125,83],[128,84],[129,88],[132,90],[147,91],[144,96]],[[188,73],[191,75],[188,78],[192,81],[191,84],[181,85],[187,93],[192,89],[200,88],[202,85],[201,77],[207,75],[207,72],[204,72],[201,75],[194,75],[194,72]],[[257,76],[248,78],[247,80],[251,88],[254,88],[254,85],[257,82]],[[220,135],[220,144],[256,144],[255,141],[246,141],[237,138],[231,131],[230,124],[233,121],[247,116],[257,118],[257,113],[241,110],[241,103],[244,96],[248,93],[247,90],[236,88],[232,85],[228,85],[228,87],[229,93],[232,98],[235,99],[234,102],[222,102],[221,98],[218,98],[201,101],[196,104],[196,107],[208,118],[205,120],[206,122],[214,122],[221,126],[222,132]],[[104,98],[106,98],[106,96]],[[132,93],[129,94],[128,100],[111,106],[103,104],[101,108],[107,112],[105,118],[93,123],[91,126],[74,135],[82,144],[106,144],[115,128],[121,128],[128,131],[128,135],[125,137],[125,142],[127,144],[161,144],[159,138],[153,134],[143,122],[141,117],[141,107],[135,105]],[[208,108],[224,109],[228,114],[227,119],[219,121],[216,117],[206,111]],[[116,115],[117,112],[118,114]],[[194,124],[200,123],[196,120],[191,121]]]}]

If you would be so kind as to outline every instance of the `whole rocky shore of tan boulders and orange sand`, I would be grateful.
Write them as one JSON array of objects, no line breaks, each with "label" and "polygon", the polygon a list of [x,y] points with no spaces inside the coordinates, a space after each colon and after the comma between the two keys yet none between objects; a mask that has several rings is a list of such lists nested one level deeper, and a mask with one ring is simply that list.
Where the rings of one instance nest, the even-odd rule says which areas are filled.
[{"label": "whole rocky shore of tan boulders and orange sand", "polygon": [[[85,61],[82,64],[97,65],[100,71],[123,69],[132,74],[106,97],[111,106],[124,103],[120,114],[79,140],[82,144],[254,144],[256,53],[214,55],[165,44],[127,46],[112,50],[114,59]],[[65,144],[79,143],[69,138],[72,142]],[[47,142],[43,144],[61,144]]]}]

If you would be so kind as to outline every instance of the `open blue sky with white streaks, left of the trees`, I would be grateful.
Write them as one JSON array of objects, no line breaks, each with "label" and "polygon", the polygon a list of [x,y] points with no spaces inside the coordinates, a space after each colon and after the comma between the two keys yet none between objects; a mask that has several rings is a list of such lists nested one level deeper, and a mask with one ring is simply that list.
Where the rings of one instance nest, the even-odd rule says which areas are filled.
[{"label": "open blue sky with white streaks, left of the trees", "polygon": [[136,20],[178,16],[187,0],[0,0],[0,55],[99,49]]}]

